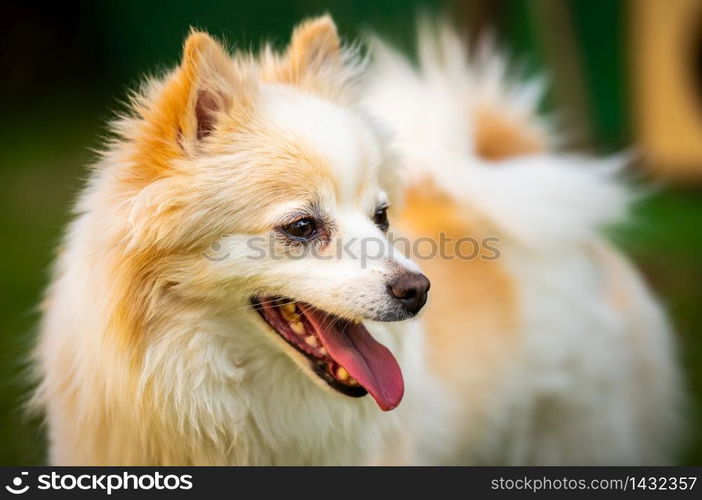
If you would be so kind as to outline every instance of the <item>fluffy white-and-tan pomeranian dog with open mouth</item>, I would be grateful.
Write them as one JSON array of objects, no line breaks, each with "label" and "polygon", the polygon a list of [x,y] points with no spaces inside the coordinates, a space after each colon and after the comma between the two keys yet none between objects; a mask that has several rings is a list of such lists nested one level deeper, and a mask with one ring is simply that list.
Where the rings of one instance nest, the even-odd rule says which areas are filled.
[{"label": "fluffy white-and-tan pomeranian dog with open mouth", "polygon": [[[535,87],[447,26],[419,69],[374,54],[327,16],[282,53],[193,32],[133,95],[43,303],[51,463],[670,460],[672,338],[599,233],[612,162],[553,152]],[[499,258],[427,279],[388,215]]]}]

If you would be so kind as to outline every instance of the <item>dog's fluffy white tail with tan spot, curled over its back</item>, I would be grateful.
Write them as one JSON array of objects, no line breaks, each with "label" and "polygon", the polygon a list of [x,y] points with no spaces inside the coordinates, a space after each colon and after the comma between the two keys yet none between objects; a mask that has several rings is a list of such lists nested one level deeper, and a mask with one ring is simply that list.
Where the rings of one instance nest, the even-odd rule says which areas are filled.
[{"label": "dog's fluffy white tail with tan spot, curled over its back", "polygon": [[626,155],[555,152],[538,112],[544,79],[527,78],[484,38],[469,51],[446,21],[420,20],[418,63],[371,37],[366,105],[395,134],[404,178],[437,186],[505,237],[543,247],[590,238],[626,213]]}]

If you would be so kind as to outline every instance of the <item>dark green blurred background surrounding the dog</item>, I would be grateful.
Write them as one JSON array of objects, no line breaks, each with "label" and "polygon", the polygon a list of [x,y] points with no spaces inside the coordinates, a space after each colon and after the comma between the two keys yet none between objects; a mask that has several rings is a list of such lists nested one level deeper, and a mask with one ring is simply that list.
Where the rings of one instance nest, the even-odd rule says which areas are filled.
[{"label": "dark green blurred background surrounding the dog", "polygon": [[[71,202],[94,158],[91,150],[99,147],[126,89],[144,74],[177,63],[190,26],[234,47],[255,47],[262,39],[282,46],[300,19],[330,12],[347,37],[373,28],[410,47],[418,10],[448,12],[466,33],[490,30],[530,71],[551,75],[552,91],[544,108],[558,110],[563,127],[573,132],[572,148],[607,153],[637,139],[627,2],[121,0],[1,5],[2,464],[45,460],[40,422],[22,410],[28,392],[24,360],[37,322],[34,307]],[[699,62],[690,63],[697,71],[693,78],[700,77]],[[702,191],[690,178],[663,175],[653,180],[645,169],[634,172],[653,181],[656,189],[614,236],[636,259],[675,323],[693,394],[691,432],[681,463],[701,464]]]}]

